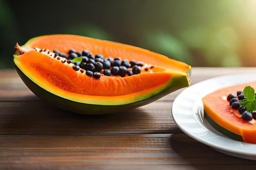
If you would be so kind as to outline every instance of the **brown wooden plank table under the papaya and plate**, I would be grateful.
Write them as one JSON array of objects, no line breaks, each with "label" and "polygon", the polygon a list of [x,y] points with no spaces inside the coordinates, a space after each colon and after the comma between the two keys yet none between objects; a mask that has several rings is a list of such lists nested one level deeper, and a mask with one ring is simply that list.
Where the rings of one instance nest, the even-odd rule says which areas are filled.
[{"label": "brown wooden plank table under the papaya and plate", "polygon": [[[192,84],[256,68],[193,68]],[[88,116],[50,106],[14,70],[0,71],[0,170],[256,169],[185,135],[171,116],[176,91],[124,113]]]}]

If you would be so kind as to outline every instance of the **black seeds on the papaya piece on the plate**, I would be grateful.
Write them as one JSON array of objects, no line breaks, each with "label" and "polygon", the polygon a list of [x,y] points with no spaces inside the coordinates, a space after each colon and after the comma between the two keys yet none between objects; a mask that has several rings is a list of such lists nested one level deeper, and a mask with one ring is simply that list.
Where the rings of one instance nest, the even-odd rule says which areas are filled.
[{"label": "black seeds on the papaya piece on the plate", "polygon": [[229,105],[233,109],[238,109],[238,112],[242,115],[242,118],[245,120],[251,120],[252,118],[256,119],[256,111],[253,111],[252,113],[249,113],[246,111],[245,106],[240,106],[239,100],[245,99],[245,96],[243,95],[242,91],[237,91],[235,93],[230,93],[227,96],[227,101],[229,102]]}]

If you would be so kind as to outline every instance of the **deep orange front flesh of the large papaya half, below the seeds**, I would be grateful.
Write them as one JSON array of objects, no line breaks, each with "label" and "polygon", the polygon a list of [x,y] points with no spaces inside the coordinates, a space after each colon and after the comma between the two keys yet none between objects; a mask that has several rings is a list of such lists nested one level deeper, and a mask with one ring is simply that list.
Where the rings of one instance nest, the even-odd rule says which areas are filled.
[{"label": "deep orange front flesh of the large papaya half, below the seeds", "polygon": [[[34,50],[19,55],[18,58],[23,68],[28,69],[29,72],[34,71],[34,77],[40,76],[43,81],[49,82],[64,91],[81,95],[128,95],[165,84],[172,75],[159,66],[150,70],[151,65],[145,64],[142,67],[142,73],[139,75],[126,77],[102,75],[100,79],[95,79],[85,75],[85,71],[84,73],[74,71],[71,65],[63,64],[60,60]],[[145,71],[145,67],[149,68],[149,71]]]}]

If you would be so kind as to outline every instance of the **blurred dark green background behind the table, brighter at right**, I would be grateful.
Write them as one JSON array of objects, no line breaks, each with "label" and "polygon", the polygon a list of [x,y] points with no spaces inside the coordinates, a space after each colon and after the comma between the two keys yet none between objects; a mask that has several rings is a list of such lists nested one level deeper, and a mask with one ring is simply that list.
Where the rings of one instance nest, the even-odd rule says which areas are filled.
[{"label": "blurred dark green background behind the table, brighter at right", "polygon": [[47,34],[139,46],[191,66],[256,66],[256,0],[0,0],[0,68]]}]

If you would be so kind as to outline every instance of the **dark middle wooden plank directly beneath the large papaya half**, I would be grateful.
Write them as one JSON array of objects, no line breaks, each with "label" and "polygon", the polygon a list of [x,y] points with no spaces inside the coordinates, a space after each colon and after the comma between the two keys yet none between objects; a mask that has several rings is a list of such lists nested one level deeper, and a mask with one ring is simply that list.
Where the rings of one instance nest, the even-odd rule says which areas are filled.
[{"label": "dark middle wooden plank directly beneath the large papaya half", "polygon": [[172,102],[155,102],[110,115],[79,115],[44,102],[1,102],[0,134],[135,134],[181,132]]}]

